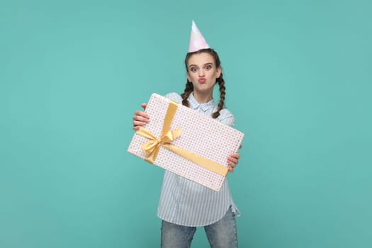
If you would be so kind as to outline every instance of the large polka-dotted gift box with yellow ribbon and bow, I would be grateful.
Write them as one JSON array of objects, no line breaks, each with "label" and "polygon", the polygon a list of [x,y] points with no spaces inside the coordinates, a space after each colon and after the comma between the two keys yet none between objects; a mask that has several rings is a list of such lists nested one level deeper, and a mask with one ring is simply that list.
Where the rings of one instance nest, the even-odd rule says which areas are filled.
[{"label": "large polka-dotted gift box with yellow ribbon and bow", "polygon": [[152,94],[150,122],[133,136],[128,152],[214,191],[227,176],[227,157],[244,134],[182,104]]}]

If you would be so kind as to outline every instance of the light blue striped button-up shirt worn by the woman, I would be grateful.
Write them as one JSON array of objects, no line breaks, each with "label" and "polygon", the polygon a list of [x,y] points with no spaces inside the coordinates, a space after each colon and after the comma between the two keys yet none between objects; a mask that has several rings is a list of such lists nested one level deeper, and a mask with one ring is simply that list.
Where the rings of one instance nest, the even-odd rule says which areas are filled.
[{"label": "light blue striped button-up shirt worn by the woman", "polygon": [[[177,103],[182,102],[181,96],[176,93],[167,94],[165,97]],[[199,104],[193,94],[190,94],[188,102],[194,111],[208,116],[212,116],[212,113],[217,111],[213,99],[208,103]],[[226,108],[220,111],[217,120],[230,126],[235,123],[234,116]],[[220,191],[216,192],[182,176],[165,171],[157,210],[157,216],[162,220],[177,225],[201,227],[220,220],[230,206],[232,212],[239,216],[239,210],[232,201],[227,179],[222,184]]]}]

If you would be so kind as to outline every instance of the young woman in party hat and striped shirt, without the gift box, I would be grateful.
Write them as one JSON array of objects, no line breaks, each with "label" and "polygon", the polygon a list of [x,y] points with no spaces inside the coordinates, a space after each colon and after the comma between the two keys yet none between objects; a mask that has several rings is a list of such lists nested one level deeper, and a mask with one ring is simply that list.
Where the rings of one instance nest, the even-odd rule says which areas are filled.
[{"label": "young woman in party hat and striped shirt, without the gift box", "polygon": [[[196,37],[196,35],[198,37]],[[195,40],[198,39],[195,43]],[[200,40],[202,42],[200,42]],[[222,77],[220,58],[211,49],[193,23],[191,44],[186,55],[187,83],[183,94],[167,94],[166,97],[184,106],[219,120],[226,125],[234,125],[235,118],[224,107],[225,81]],[[195,45],[197,44],[197,45]],[[213,88],[220,87],[220,100],[215,105]],[[142,108],[146,104],[142,103]],[[143,111],[133,116],[133,129],[138,130],[150,120]],[[239,154],[227,157],[229,171],[234,171]],[[162,186],[157,215],[162,219],[162,247],[190,247],[196,227],[204,227],[210,247],[237,247],[235,215],[239,210],[232,201],[227,180],[216,192],[166,171]]]}]

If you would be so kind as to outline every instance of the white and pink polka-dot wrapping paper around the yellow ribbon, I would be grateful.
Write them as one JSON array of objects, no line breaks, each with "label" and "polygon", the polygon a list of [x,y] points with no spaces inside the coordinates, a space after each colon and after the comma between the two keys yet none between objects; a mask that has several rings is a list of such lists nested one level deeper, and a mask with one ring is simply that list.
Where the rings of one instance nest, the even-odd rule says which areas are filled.
[{"label": "white and pink polka-dot wrapping paper around the yellow ribbon", "polygon": [[[168,98],[158,94],[152,94],[147,103],[145,112],[150,115],[150,122],[144,128],[156,137],[160,137],[162,134],[164,117],[169,103]],[[181,128],[181,136],[171,142],[171,145],[198,154],[224,167],[227,167],[227,157],[233,152],[237,152],[244,137],[244,134],[235,128],[181,104],[178,104],[169,130],[176,128]],[[146,154],[142,152],[141,147],[149,141],[146,137],[135,133],[128,147],[128,152],[145,159]],[[159,148],[159,154],[157,154],[154,164],[214,191],[219,191],[225,180],[225,176],[205,169],[163,146]]]}]

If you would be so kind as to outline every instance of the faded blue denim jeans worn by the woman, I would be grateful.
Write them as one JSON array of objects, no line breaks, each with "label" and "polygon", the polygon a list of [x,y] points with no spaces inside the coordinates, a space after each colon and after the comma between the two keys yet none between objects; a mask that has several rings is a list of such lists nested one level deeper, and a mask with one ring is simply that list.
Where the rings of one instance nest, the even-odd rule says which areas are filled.
[{"label": "faded blue denim jeans worn by the woman", "polygon": [[[204,227],[211,248],[237,248],[237,225],[231,208],[225,216]],[[196,227],[162,221],[162,248],[189,248]]]}]

